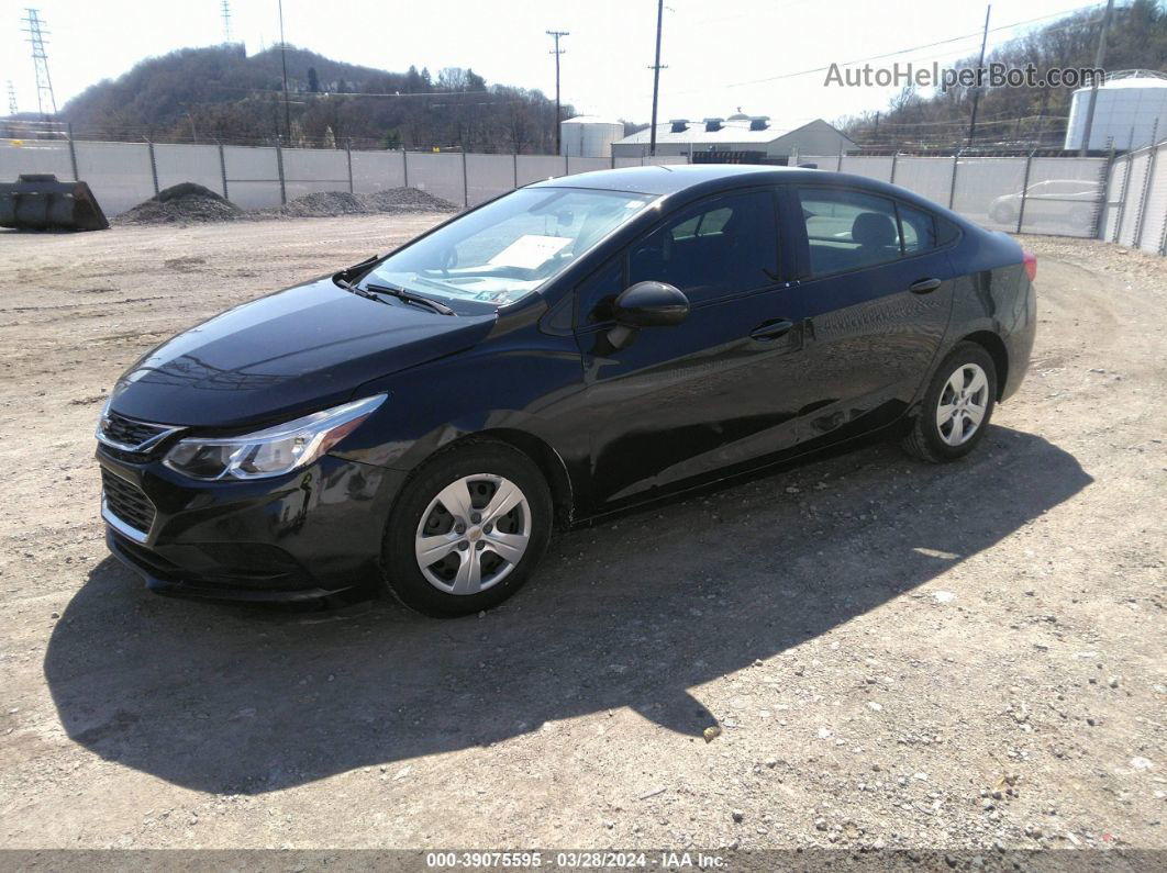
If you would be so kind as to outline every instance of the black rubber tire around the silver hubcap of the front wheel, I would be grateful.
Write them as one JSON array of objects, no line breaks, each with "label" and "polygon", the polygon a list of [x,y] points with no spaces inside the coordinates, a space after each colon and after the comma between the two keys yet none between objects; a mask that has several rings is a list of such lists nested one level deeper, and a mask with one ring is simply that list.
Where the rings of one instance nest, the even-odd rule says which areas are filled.
[{"label": "black rubber tire around the silver hubcap of the front wheel", "polygon": [[[421,514],[439,492],[463,477],[480,473],[508,479],[525,497],[530,507],[530,518],[524,521],[527,526],[526,551],[505,577],[490,587],[473,594],[449,593],[422,573],[415,557],[415,536],[422,523]],[[442,451],[408,479],[390,513],[382,550],[385,587],[411,610],[435,618],[469,615],[497,606],[518,591],[534,571],[551,540],[553,512],[551,491],[543,473],[517,449],[504,443],[470,441]],[[473,533],[474,528],[468,536]],[[457,557],[452,554],[452,559]]]}]

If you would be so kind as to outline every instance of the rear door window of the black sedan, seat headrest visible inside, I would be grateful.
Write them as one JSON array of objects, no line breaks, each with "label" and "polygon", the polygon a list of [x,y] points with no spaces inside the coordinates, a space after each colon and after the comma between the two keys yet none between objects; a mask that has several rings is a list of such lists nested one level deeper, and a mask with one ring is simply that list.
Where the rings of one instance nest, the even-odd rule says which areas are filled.
[{"label": "rear door window of the black sedan, seat headrest visible inside", "polygon": [[810,269],[816,276],[874,267],[901,256],[895,203],[861,191],[798,190]]}]

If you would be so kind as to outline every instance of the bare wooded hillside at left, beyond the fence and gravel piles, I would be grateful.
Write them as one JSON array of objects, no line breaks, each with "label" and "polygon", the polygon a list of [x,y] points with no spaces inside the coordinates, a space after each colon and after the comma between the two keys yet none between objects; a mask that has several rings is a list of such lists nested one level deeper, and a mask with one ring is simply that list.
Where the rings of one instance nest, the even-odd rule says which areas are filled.
[{"label": "bare wooded hillside at left, beyond the fence and gravel piles", "polygon": [[[540,152],[554,146],[554,104],[539,91],[488,86],[473,70],[387,72],[287,48],[291,138],[279,48],[181,49],[90,86],[61,112],[79,136],[107,140]],[[565,111],[569,111],[567,107]]]}]

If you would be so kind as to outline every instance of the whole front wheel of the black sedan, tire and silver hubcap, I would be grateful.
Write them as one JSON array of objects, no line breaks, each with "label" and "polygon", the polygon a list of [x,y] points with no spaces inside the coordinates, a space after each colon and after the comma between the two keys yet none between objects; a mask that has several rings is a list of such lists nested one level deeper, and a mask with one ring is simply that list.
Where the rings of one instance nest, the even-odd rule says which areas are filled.
[{"label": "whole front wheel of the black sedan, tire and silver hubcap", "polygon": [[468,443],[427,462],[390,514],[385,585],[427,615],[468,615],[518,591],[546,550],[551,492],[502,443]]}]

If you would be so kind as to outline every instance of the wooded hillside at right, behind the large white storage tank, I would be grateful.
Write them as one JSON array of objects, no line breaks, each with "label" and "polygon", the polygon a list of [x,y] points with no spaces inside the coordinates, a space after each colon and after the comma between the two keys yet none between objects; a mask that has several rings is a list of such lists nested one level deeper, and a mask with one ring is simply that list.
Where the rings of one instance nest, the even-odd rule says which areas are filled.
[{"label": "wooded hillside at right, behind the large white storage tank", "polygon": [[[1032,62],[1042,76],[1055,66],[1092,68],[1100,28],[1100,7],[1078,12],[991,51],[985,62],[1018,69]],[[976,56],[951,64],[976,65]],[[1161,0],[1116,5],[1103,66],[1111,72],[1167,71],[1167,8]],[[1070,87],[987,89],[978,108],[976,143],[988,148],[1060,148],[1072,94]],[[971,89],[955,87],[935,94],[906,89],[887,111],[844,119],[840,126],[869,147],[950,148],[966,138],[971,108]]]}]

